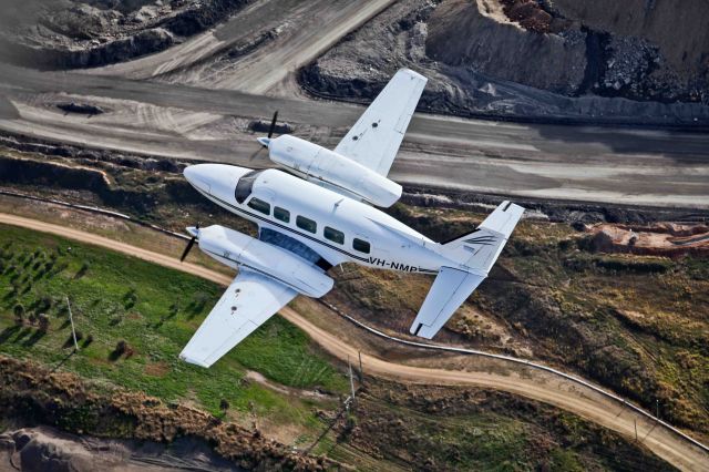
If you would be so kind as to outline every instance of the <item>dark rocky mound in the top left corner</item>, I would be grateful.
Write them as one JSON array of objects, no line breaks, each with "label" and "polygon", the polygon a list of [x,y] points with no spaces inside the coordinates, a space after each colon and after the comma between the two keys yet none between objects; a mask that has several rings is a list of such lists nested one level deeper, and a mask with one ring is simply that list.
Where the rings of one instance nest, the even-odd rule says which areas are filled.
[{"label": "dark rocky mound in the top left corner", "polygon": [[91,68],[162,51],[247,0],[3,0],[0,59],[41,69]]}]

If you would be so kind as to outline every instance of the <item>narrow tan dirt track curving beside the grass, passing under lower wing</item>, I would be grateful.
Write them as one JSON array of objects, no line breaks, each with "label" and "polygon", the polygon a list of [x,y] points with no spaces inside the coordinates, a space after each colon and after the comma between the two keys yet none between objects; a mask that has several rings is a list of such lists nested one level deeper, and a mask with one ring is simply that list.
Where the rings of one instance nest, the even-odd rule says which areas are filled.
[{"label": "narrow tan dirt track curving beside the grass, passing under lower wing", "polygon": [[[181,264],[179,260],[172,256],[153,253],[91,233],[2,213],[0,213],[0,224],[21,226],[117,250],[164,267],[186,271],[224,286],[229,285],[232,281],[229,276],[214,270],[194,264]],[[341,360],[358,356],[358,349],[347,345],[336,335],[315,326],[291,308],[284,308],[280,310],[280,315],[306,331],[332,356]],[[690,444],[661,424],[649,421],[646,417],[633,410],[623,408],[617,402],[589,388],[562,379],[551,372],[520,367],[501,359],[491,361],[492,365],[486,363],[485,369],[481,371],[453,371],[412,367],[362,353],[364,370],[369,374],[377,377],[424,384],[475,386],[503,390],[571,411],[612,429],[626,438],[635,437],[635,425],[637,424],[639,440],[658,456],[681,470],[709,470],[709,455],[699,448]]]}]

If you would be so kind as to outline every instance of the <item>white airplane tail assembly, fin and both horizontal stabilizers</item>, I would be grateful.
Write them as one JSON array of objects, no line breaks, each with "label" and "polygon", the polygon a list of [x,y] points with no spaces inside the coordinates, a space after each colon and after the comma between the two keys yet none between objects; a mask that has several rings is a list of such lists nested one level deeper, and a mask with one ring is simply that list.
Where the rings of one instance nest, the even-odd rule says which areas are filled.
[{"label": "white airplane tail assembly, fin and both horizontal stabilizers", "polygon": [[411,334],[431,339],[487,277],[524,208],[503,202],[473,233],[441,246],[441,253],[462,266],[441,267]]}]

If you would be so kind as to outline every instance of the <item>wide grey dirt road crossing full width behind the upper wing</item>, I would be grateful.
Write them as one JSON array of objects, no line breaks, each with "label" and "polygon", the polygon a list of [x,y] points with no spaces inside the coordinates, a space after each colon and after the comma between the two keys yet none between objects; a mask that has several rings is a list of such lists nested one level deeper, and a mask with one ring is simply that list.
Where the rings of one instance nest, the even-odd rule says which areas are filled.
[{"label": "wide grey dirt road crossing full width behind the upper wing", "polygon": [[[58,93],[59,92],[59,93]],[[69,99],[64,94],[72,94]],[[251,119],[274,110],[333,147],[361,106],[0,64],[0,129],[137,154],[247,167]],[[96,103],[96,116],[59,101]],[[238,119],[236,119],[238,116]],[[243,123],[239,127],[237,120]],[[404,185],[596,203],[709,208],[709,133],[494,123],[417,114],[392,167]]]}]

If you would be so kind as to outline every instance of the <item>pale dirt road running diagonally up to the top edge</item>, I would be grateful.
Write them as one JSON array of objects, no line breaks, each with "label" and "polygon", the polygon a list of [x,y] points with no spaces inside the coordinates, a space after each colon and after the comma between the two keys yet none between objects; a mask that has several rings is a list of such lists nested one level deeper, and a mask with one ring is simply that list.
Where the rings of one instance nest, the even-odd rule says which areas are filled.
[{"label": "pale dirt road running diagonally up to the top edge", "polygon": [[[131,79],[173,73],[169,80],[179,83],[264,93],[391,3],[393,0],[259,0],[213,30],[163,52],[84,72]],[[259,32],[271,39],[242,60],[229,63],[216,58],[236,44],[256,40]]]}]

